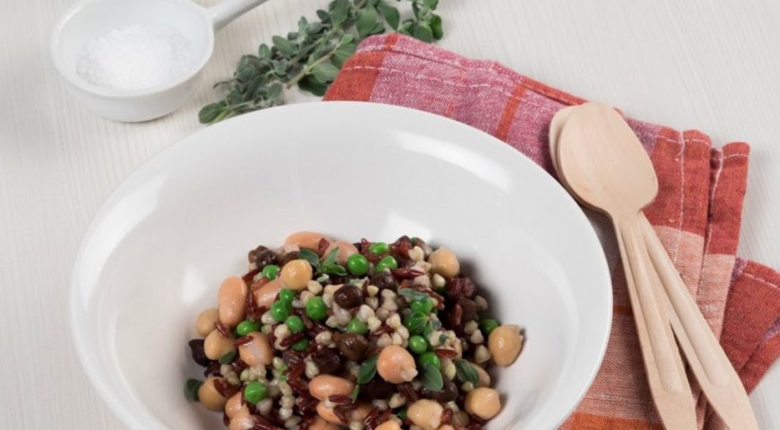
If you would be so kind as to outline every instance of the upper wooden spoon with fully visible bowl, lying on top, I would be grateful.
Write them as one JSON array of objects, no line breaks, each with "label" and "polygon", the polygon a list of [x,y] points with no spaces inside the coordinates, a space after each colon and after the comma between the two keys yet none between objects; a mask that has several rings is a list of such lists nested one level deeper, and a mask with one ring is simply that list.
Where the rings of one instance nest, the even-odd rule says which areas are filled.
[{"label": "upper wooden spoon with fully visible bowl, lying on top", "polygon": [[667,429],[696,428],[696,409],[680,351],[654,288],[639,213],[658,181],[637,136],[611,107],[586,103],[569,112],[558,140],[561,176],[576,199],[615,227],[647,381]]}]

